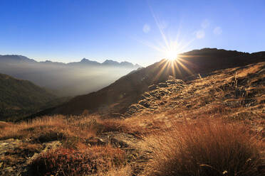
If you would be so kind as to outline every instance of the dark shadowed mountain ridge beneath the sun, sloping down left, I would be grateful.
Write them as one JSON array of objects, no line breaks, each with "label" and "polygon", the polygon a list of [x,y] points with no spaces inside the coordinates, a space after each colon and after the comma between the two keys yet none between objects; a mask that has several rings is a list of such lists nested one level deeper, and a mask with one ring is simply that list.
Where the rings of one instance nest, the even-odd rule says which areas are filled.
[{"label": "dark shadowed mountain ridge beneath the sun, sloping down left", "polygon": [[177,61],[161,60],[129,75],[121,77],[108,87],[98,92],[85,94],[71,99],[58,107],[55,114],[82,114],[84,110],[90,113],[110,115],[124,114],[131,104],[136,103],[141,94],[152,84],[165,82],[171,75],[185,81],[209,75],[214,70],[229,67],[239,67],[261,62],[265,53],[241,53],[230,50],[204,48],[183,53]]}]

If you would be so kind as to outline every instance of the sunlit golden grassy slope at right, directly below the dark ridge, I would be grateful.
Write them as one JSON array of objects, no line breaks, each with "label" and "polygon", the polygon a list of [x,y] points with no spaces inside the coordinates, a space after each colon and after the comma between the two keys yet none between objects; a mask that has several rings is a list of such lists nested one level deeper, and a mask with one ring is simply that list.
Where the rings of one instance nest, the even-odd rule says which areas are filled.
[{"label": "sunlit golden grassy slope at right, directly below the dark ridge", "polygon": [[189,82],[169,79],[154,84],[124,115],[130,117],[163,113],[166,116],[174,114],[180,118],[187,116],[197,119],[204,114],[217,116],[222,111],[222,118],[256,123],[256,119],[265,118],[264,95],[265,62],[259,62],[217,70],[210,76],[198,77]]}]

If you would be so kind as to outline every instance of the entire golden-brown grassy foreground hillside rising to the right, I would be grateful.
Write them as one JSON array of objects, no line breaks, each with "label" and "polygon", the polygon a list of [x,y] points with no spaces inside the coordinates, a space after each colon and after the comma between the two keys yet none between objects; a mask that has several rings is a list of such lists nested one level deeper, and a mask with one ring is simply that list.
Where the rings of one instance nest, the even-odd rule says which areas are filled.
[{"label": "entire golden-brown grassy foreground hillside rising to the right", "polygon": [[122,118],[0,123],[1,174],[263,176],[265,62],[207,75],[152,84]]}]

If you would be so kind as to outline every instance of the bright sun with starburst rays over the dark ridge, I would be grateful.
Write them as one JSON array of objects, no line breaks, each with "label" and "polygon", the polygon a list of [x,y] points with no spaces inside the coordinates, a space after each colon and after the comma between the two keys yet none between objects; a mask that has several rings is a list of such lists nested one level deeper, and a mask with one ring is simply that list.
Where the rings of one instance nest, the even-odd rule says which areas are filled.
[{"label": "bright sun with starburst rays over the dark ridge", "polygon": [[165,26],[162,25],[160,19],[155,16],[151,6],[150,11],[160,32],[160,38],[162,40],[156,43],[146,40],[138,41],[143,45],[147,45],[149,48],[156,50],[158,53],[160,53],[160,57],[162,56],[162,58],[164,58],[164,60],[162,60],[158,65],[159,71],[154,77],[154,81],[159,80],[160,77],[163,77],[163,75],[172,75],[178,79],[181,79],[185,75],[192,75],[192,71],[189,70],[189,65],[191,64],[187,60],[188,56],[182,55],[181,53],[184,53],[185,50],[187,50],[188,46],[195,40],[195,38],[189,40],[188,42],[183,39],[180,40],[180,37],[183,37],[180,35],[180,28],[177,30],[177,35],[175,37],[166,35]]}]

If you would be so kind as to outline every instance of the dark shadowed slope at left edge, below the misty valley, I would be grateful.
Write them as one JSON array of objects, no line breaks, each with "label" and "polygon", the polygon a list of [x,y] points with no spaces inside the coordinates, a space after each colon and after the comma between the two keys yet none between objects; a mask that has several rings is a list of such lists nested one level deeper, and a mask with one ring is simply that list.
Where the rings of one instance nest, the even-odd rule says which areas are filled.
[{"label": "dark shadowed slope at left edge, below the misty valley", "polygon": [[55,95],[29,81],[0,74],[0,121],[39,111],[55,99]]}]

